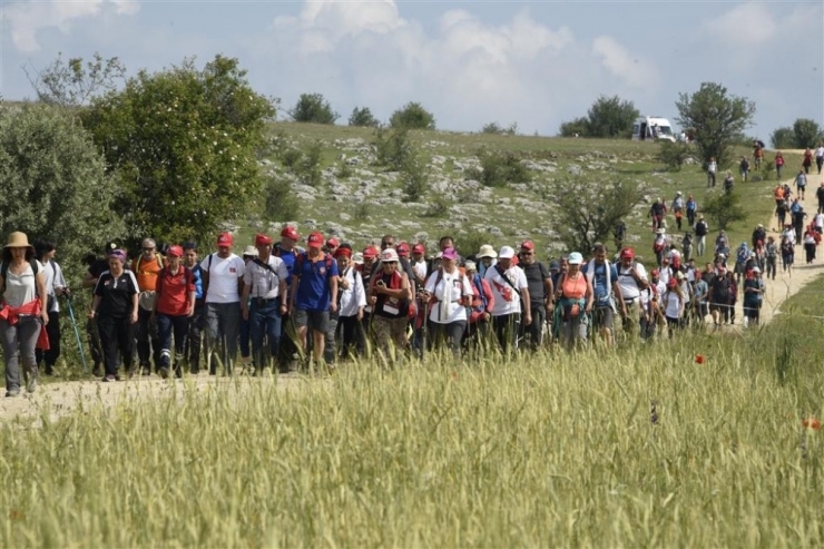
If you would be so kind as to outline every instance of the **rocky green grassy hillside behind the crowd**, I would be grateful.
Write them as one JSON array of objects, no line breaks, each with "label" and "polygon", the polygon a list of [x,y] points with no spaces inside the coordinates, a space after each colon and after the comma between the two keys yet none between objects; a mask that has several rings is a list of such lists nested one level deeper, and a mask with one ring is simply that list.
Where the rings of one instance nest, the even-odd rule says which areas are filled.
[{"label": "rocky green grassy hillside behind the crowd", "polygon": [[[650,200],[664,197],[669,205],[676,190],[680,190],[685,196],[693,194],[700,208],[707,193],[706,176],[699,165],[667,171],[655,159],[658,146],[650,143],[412,131],[410,141],[425,163],[430,190],[420,200],[409,202],[400,174],[376,165],[373,129],[278,122],[273,126],[272,136],[273,147],[262,164],[271,176],[293,183],[300,197],[297,212],[291,208],[290,215],[239,222],[241,243],[251,241],[255,231],[274,233],[282,223],[292,223],[303,235],[318,229],[357,248],[386,233],[424,241],[430,248],[440,236],[453,235],[464,254],[475,252],[480,243],[498,247],[532,238],[542,256],[557,256],[562,245],[553,216],[553,190],[559,180],[579,175],[596,184],[622,178],[649,188],[645,200],[627,219],[629,243],[640,254],[649,254]],[[301,184],[295,169],[286,166],[297,150],[307,151],[313,146],[320,148],[322,169],[314,187]],[[530,180],[484,186],[475,179],[473,168],[488,153],[514,155]],[[738,151],[738,156],[748,154],[746,148]],[[793,165],[791,157],[788,166]],[[730,168],[738,182],[737,167]],[[769,217],[774,184],[737,183],[736,192],[745,195],[748,218],[733,228],[733,242],[748,241],[753,227]],[[668,219],[668,227],[675,233],[674,218]]]}]

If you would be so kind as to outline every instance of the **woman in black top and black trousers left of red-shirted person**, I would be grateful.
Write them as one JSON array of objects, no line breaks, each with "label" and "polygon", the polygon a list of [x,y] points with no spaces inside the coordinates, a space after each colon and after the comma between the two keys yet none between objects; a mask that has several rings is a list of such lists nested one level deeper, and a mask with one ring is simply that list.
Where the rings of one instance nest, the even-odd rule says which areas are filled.
[{"label": "woman in black top and black trousers left of red-shirted person", "polygon": [[109,269],[95,286],[89,317],[97,318],[106,374],[102,381],[118,381],[117,366],[122,357],[126,372],[135,374],[135,327],[139,290],[131,271],[124,269],[126,252],[114,249],[108,255]]}]

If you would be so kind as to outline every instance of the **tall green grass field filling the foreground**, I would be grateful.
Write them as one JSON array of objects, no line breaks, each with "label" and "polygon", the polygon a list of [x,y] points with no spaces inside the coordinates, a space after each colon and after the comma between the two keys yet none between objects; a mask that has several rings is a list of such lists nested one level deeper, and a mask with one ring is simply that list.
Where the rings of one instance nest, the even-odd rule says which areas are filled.
[{"label": "tall green grass field filling the foreground", "polygon": [[0,428],[0,546],[820,546],[824,378],[766,337],[45,404]]}]

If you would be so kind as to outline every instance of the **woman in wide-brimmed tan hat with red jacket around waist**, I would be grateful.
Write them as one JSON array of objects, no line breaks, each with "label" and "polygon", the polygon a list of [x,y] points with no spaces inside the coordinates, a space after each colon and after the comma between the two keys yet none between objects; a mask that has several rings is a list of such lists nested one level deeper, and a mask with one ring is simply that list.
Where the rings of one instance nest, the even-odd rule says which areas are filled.
[{"label": "woman in wide-brimmed tan hat with red jacket around waist", "polygon": [[46,295],[46,273],[35,258],[35,247],[24,233],[11,233],[3,247],[0,267],[2,310],[0,334],[6,357],[6,396],[20,394],[20,362],[27,379],[26,391],[37,389],[35,349],[42,326],[49,324],[49,312],[40,302]]}]

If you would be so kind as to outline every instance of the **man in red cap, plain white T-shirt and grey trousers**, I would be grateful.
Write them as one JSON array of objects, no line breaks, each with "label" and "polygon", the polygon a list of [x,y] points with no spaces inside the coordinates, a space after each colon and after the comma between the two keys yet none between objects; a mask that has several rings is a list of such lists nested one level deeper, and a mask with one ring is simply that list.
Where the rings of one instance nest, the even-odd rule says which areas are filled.
[{"label": "man in red cap, plain white T-shirt and grey trousers", "polygon": [[217,252],[200,262],[203,291],[206,294],[206,335],[209,349],[209,373],[217,373],[215,351],[227,374],[237,355],[241,332],[241,293],[246,265],[243,258],[232,253],[234,238],[230,233],[217,237]]}]

